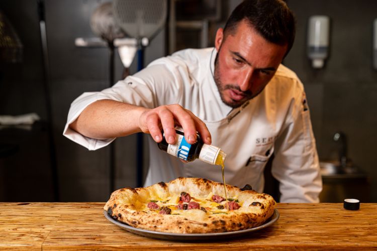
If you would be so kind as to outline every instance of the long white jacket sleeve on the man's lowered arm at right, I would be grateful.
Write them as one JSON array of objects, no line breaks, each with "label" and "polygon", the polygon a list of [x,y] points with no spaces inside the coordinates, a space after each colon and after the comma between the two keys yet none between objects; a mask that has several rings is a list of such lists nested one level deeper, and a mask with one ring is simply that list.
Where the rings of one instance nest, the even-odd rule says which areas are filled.
[{"label": "long white jacket sleeve on the man's lowered arm at right", "polygon": [[319,202],[322,190],[310,113],[302,102],[293,104],[275,142],[272,175],[280,182],[280,202]]}]

